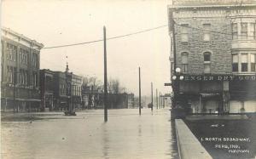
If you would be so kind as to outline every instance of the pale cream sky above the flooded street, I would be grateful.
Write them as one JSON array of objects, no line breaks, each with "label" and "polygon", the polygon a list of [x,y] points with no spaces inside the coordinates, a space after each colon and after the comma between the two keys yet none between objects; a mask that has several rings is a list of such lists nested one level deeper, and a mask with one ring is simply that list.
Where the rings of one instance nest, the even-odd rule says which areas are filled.
[{"label": "pale cream sky above the flooded street", "polygon": [[[40,69],[70,71],[103,82],[103,42],[65,48],[48,48],[84,43],[159,29],[107,41],[108,79],[118,79],[129,93],[138,94],[141,67],[142,95],[150,95],[150,82],[169,94],[170,37],[167,5],[170,0],[2,0],[2,26],[43,43]],[[48,49],[47,49],[48,48]],[[67,58],[66,58],[67,57]]]}]

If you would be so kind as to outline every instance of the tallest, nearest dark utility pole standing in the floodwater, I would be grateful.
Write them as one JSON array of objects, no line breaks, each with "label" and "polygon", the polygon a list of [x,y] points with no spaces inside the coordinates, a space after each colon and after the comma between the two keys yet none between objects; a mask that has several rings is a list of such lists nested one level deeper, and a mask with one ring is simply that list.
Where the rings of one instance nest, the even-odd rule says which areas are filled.
[{"label": "tallest, nearest dark utility pole standing in the floodwater", "polygon": [[104,34],[104,121],[108,122],[108,77],[107,77],[107,46],[106,27],[103,27]]}]

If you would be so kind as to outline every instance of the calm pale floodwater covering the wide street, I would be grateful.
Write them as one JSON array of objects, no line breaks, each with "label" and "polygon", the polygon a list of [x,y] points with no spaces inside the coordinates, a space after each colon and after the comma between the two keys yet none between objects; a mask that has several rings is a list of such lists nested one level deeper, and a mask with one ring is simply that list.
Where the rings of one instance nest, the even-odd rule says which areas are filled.
[{"label": "calm pale floodwater covering the wide street", "polygon": [[[167,109],[19,113],[2,116],[3,159],[177,158]],[[21,121],[21,122],[20,122]]]}]

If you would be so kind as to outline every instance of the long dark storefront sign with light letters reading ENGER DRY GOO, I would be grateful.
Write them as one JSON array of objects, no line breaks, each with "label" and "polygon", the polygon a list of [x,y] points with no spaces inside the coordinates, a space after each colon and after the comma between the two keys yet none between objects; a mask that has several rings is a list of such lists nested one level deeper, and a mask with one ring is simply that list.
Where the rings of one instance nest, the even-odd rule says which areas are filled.
[{"label": "long dark storefront sign with light letters reading ENGER DRY GOO", "polygon": [[183,76],[183,81],[256,81],[256,75]]}]

